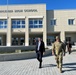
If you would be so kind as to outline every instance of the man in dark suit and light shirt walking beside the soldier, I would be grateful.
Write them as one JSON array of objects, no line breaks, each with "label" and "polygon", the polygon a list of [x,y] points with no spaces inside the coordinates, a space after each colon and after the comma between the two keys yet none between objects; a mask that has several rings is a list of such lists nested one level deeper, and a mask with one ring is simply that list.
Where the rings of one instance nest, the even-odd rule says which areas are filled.
[{"label": "man in dark suit and light shirt walking beside the soldier", "polygon": [[36,55],[37,55],[37,60],[39,61],[39,68],[42,67],[43,52],[45,52],[45,44],[41,40],[41,38],[38,38],[36,42]]}]

